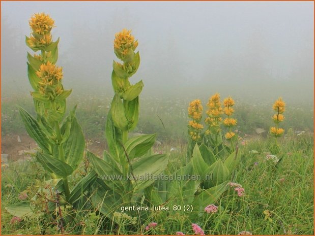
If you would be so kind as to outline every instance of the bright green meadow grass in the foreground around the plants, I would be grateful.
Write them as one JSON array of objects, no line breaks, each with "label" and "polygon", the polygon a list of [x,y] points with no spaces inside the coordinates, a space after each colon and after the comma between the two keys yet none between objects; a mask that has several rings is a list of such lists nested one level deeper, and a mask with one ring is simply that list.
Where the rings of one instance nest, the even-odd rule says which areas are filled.
[{"label": "bright green meadow grass in the foreground around the plants", "polygon": [[[245,138],[246,139],[246,138]],[[292,133],[281,139],[282,160],[275,164],[266,160],[269,138],[248,139],[241,146],[242,159],[234,182],[245,189],[239,197],[233,188],[225,191],[216,203],[217,213],[199,212],[197,222],[189,219],[189,213],[153,212],[140,220],[132,212],[118,214],[119,223],[113,223],[89,205],[89,197],[77,210],[61,207],[59,215],[45,213],[35,218],[25,217],[21,222],[10,223],[12,216],[5,208],[21,201],[21,193],[27,199],[33,197],[45,176],[42,167],[33,159],[9,163],[2,167],[2,234],[60,234],[60,222],[67,234],[175,234],[182,231],[193,234],[191,224],[197,223],[206,234],[313,234],[313,136]],[[175,148],[170,152],[170,148]],[[185,146],[161,145],[155,151],[170,152],[166,172],[173,172],[186,164]],[[257,153],[251,152],[252,150]],[[83,166],[73,175],[73,186],[84,175]],[[39,181],[41,180],[41,181]],[[82,203],[83,204],[83,203]],[[81,210],[80,210],[81,209]],[[83,210],[84,209],[84,210]],[[157,222],[156,228],[145,227]]]}]

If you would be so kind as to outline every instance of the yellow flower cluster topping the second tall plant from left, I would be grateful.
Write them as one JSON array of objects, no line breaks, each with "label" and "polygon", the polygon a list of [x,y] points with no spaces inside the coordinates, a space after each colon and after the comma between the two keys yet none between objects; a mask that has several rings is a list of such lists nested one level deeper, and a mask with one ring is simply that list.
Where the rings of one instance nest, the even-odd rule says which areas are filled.
[{"label": "yellow flower cluster topping the second tall plant from left", "polygon": [[117,57],[124,60],[127,55],[133,55],[133,51],[138,46],[138,41],[130,34],[131,30],[123,29],[115,34],[114,52]]}]

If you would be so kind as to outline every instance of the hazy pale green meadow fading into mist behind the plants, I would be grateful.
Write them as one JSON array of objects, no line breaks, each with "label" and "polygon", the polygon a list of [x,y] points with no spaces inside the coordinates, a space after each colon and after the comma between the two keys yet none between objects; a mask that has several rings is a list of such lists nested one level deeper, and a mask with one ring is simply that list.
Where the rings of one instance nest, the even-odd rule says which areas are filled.
[{"label": "hazy pale green meadow fading into mist behind the plants", "polygon": [[[104,127],[111,98],[104,95],[73,94],[68,100],[68,111],[76,104],[78,105],[77,119],[85,137],[104,141]],[[207,98],[203,100],[204,110],[206,110]],[[187,106],[190,101],[189,98],[142,96],[139,122],[133,132],[157,133],[157,140],[165,143],[185,141],[188,123]],[[17,105],[34,115],[34,106],[30,95],[12,95],[10,98],[2,98],[3,135],[26,133],[17,111]],[[233,117],[238,120],[236,128],[244,134],[255,134],[256,128],[263,128],[266,131],[262,136],[266,137],[269,127],[273,124],[271,105],[272,102],[257,101],[255,105],[252,105],[246,100],[236,100],[236,112],[233,114]],[[285,111],[285,122],[281,125],[285,130],[293,128],[294,131],[312,131],[314,127],[312,106],[288,103]]]}]

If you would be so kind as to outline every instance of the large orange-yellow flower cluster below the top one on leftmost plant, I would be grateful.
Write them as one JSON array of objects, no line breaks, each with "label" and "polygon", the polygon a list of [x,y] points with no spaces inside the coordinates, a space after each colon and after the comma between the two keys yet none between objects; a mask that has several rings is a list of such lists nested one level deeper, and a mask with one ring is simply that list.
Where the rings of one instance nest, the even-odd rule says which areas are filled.
[{"label": "large orange-yellow flower cluster below the top one on leftmost plant", "polygon": [[38,83],[41,94],[61,94],[63,92],[63,87],[60,83],[63,78],[61,67],[58,67],[48,61],[45,64],[41,64],[40,69],[36,72],[36,75],[41,79]]}]

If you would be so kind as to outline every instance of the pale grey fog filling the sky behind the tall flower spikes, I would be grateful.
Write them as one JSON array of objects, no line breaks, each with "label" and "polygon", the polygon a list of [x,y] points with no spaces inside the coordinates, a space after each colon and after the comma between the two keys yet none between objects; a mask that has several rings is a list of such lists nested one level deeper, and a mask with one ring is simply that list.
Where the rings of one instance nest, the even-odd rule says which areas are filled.
[{"label": "pale grey fog filling the sky behind the tall flower spikes", "polygon": [[28,20],[45,12],[61,38],[65,88],[112,95],[114,33],[132,29],[142,95],[313,104],[313,2],[2,2],[2,97],[27,94]]}]

